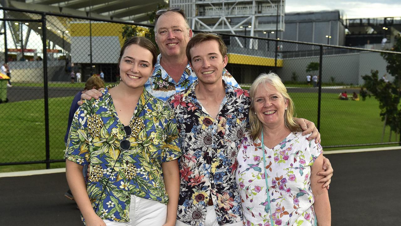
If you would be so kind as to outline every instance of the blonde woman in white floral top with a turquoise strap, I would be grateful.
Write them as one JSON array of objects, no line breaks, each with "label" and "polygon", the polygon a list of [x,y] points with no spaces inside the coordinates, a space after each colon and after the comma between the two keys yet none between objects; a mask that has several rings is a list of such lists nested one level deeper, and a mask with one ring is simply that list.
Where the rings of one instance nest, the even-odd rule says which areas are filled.
[{"label": "blonde woman in white floral top with a turquoise strap", "polygon": [[286,87],[276,74],[261,74],[250,97],[250,129],[236,171],[245,225],[330,225],[328,192],[317,182],[322,146],[294,122]]}]

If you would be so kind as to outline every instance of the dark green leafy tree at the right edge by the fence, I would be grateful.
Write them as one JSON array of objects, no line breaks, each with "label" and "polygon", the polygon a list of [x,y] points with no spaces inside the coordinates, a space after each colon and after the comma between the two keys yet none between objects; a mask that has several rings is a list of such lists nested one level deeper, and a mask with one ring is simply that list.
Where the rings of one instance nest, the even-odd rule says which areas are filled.
[{"label": "dark green leafy tree at the right edge by the fence", "polygon": [[[395,38],[395,44],[391,51],[401,52],[401,36]],[[379,72],[372,70],[370,75],[362,76],[365,80],[363,90],[360,96],[365,101],[366,97],[374,96],[379,101],[381,120],[385,121],[385,125],[389,125],[391,131],[400,132],[401,128],[401,54],[381,53],[384,60],[387,62],[386,70],[393,76],[393,82],[385,82],[382,78],[379,79]]]}]

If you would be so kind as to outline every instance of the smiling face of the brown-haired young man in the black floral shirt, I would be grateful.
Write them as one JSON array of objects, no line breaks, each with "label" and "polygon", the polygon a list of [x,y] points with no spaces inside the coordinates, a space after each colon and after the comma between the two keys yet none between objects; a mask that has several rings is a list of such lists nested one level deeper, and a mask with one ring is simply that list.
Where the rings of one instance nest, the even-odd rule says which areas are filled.
[{"label": "smiling face of the brown-haired young man in the black floral shirt", "polygon": [[199,83],[215,84],[222,81],[223,68],[227,65],[227,55],[220,53],[219,43],[209,40],[199,43],[190,50],[190,65]]}]

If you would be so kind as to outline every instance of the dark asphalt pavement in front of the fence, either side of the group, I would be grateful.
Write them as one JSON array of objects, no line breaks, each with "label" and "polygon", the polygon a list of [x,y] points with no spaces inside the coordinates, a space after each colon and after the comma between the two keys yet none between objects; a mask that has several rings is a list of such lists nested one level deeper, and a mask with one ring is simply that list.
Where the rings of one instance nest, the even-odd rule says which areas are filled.
[{"label": "dark asphalt pavement in front of the fence, either side of the group", "polygon": [[[401,225],[401,150],[326,155],[333,226]],[[398,179],[397,179],[398,178]],[[1,226],[83,225],[65,173],[0,178]]]}]

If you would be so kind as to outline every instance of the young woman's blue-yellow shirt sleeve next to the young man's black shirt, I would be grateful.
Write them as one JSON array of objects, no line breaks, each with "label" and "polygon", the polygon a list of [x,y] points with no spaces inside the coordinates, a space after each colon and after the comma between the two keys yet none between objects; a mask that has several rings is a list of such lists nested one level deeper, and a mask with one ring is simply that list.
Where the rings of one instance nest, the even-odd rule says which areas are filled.
[{"label": "young woman's blue-yellow shirt sleeve next to the young man's black shirt", "polygon": [[182,156],[182,151],[179,148],[179,139],[178,139],[178,129],[177,129],[177,121],[175,118],[174,112],[172,112],[171,108],[168,106],[168,111],[164,131],[166,135],[164,136],[163,142],[163,154],[162,154],[162,162],[168,162],[171,160],[175,160]]}]

